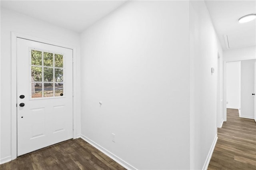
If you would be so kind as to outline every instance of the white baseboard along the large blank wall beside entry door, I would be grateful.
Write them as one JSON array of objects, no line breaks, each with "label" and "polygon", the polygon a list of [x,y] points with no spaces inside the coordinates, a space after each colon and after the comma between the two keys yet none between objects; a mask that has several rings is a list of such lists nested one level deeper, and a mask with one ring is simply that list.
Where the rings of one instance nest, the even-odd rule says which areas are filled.
[{"label": "white baseboard along the large blank wall beside entry door", "polygon": [[128,170],[136,170],[136,168],[134,168],[133,166],[131,166],[130,164],[128,164],[127,162],[125,162],[124,160],[122,160],[121,158],[118,158],[118,156],[112,154],[111,152],[109,152],[108,150],[106,150],[105,148],[103,148],[102,146],[96,144],[95,142],[93,142],[92,140],[90,140],[89,138],[87,138],[86,136],[81,134],[81,138],[83,140],[85,140],[86,142],[88,142],[89,144],[91,144],[92,146],[94,146],[95,148],[97,148],[98,150],[100,150],[100,152],[106,154],[108,157],[110,157],[111,159],[113,159],[114,161],[116,161],[118,164],[120,164],[121,166],[123,166],[124,168],[128,169]]}]

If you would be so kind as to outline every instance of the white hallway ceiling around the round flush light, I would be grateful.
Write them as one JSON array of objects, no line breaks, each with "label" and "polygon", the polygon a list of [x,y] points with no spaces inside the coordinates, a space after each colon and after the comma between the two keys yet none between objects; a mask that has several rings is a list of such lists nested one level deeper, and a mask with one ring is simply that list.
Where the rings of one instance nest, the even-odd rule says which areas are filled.
[{"label": "white hallway ceiling around the round flush light", "polygon": [[247,14],[256,14],[255,0],[205,0],[222,49],[256,45],[256,20],[238,23]]}]

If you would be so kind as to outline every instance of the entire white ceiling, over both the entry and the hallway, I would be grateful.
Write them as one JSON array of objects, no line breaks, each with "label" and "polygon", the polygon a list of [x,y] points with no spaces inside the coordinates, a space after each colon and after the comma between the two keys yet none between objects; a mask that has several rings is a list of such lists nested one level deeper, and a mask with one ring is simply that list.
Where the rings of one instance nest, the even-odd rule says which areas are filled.
[{"label": "entire white ceiling, over both the entry and the hallway", "polygon": [[[1,0],[1,7],[51,24],[82,32],[127,0]],[[205,0],[224,50],[256,45],[256,20],[244,24],[238,19],[256,14],[255,0]]]}]

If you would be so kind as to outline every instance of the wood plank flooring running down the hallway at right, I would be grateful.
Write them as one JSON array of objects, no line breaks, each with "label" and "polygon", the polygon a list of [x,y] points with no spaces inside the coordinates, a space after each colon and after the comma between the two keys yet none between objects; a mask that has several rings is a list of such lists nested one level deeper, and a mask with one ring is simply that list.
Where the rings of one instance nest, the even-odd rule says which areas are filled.
[{"label": "wood plank flooring running down the hallway at right", "polygon": [[227,109],[227,121],[218,128],[218,141],[208,170],[256,170],[256,123]]}]

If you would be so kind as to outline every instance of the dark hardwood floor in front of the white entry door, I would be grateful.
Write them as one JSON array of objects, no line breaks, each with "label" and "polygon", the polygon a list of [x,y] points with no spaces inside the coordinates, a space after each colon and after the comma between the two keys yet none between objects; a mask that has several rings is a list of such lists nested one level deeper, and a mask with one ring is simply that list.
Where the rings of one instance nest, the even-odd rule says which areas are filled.
[{"label": "dark hardwood floor in front of the white entry door", "polygon": [[81,138],[31,152],[0,167],[1,170],[125,170]]}]

